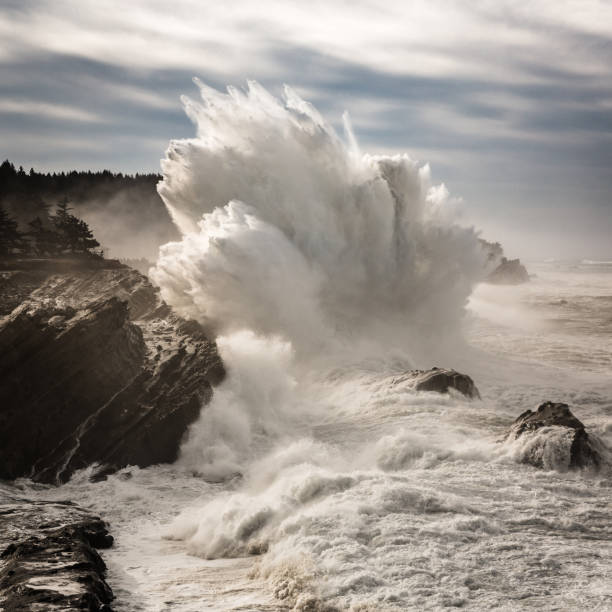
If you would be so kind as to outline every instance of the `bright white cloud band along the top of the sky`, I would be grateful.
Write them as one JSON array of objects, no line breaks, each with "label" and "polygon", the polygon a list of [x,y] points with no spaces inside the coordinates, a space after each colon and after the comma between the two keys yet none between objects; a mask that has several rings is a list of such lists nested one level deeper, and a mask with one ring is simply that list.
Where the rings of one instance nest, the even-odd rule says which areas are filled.
[{"label": "bright white cloud band along the top of the sky", "polygon": [[611,23],[611,5],[589,0],[237,0],[231,8],[177,0],[171,11],[158,0],[89,0],[79,10],[69,0],[40,0],[6,5],[0,33],[5,56],[14,59],[39,50],[133,68],[236,74],[257,58],[257,70],[270,76],[279,69],[266,62],[271,45],[317,50],[391,74],[516,83],[534,78],[521,59],[609,75],[609,51],[581,42],[608,40]]}]

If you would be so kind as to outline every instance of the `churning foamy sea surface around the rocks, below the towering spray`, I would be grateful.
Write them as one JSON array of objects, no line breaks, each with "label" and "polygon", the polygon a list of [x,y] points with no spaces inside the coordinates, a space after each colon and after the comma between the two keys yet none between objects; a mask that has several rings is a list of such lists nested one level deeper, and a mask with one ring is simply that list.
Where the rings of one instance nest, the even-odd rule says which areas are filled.
[{"label": "churning foamy sea surface around the rocks, below the towering spray", "polygon": [[612,447],[612,265],[529,269],[476,288],[466,352],[444,364],[482,401],[369,364],[330,376],[316,420],[260,433],[243,477],[211,482],[183,457],[35,494],[110,522],[119,610],[608,610],[610,471],[538,470],[500,440],[551,399]]}]

